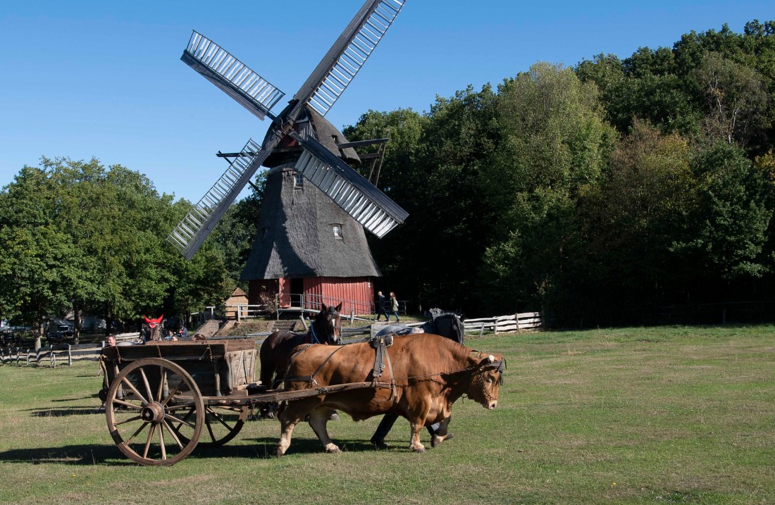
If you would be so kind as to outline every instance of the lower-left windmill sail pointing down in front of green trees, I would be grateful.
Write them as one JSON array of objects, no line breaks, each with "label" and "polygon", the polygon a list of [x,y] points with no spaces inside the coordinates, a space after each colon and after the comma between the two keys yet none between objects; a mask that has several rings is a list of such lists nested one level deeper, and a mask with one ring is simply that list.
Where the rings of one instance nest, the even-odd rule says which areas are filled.
[{"label": "lower-left windmill sail pointing down in front of green trees", "polygon": [[221,178],[167,236],[167,242],[175,246],[186,259],[194,256],[212,228],[215,228],[220,218],[226,214],[229,205],[267,158],[269,152],[260,149],[253,139],[248,140]]}]

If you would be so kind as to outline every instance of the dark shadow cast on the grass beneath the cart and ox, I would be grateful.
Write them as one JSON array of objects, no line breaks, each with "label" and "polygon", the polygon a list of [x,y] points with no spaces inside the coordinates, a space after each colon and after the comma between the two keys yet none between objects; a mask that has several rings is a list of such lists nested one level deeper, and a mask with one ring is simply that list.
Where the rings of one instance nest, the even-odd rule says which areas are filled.
[{"label": "dark shadow cast on the grass beneath the cart and ox", "polygon": [[[277,438],[253,438],[250,445],[222,445],[207,447],[199,445],[187,459],[210,458],[257,458],[274,459],[276,457]],[[374,451],[368,441],[335,442],[343,452]],[[312,438],[299,438],[291,442],[288,455],[320,454],[325,452],[320,441]],[[11,449],[0,452],[0,462],[29,463],[33,465],[109,465],[136,466],[137,464],[123,455],[115,445],[64,445],[62,447],[38,447]],[[180,464],[180,463],[178,463]]]}]

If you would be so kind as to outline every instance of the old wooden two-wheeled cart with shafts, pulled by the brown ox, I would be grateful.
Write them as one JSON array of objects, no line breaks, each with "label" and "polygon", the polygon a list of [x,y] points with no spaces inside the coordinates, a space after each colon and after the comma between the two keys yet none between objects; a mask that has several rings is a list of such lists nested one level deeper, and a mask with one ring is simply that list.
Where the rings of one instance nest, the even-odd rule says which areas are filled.
[{"label": "old wooden two-wheeled cart with shafts, pulled by the brown ox", "polygon": [[267,390],[255,384],[257,354],[253,338],[102,349],[101,397],[113,441],[140,465],[174,465],[198,444],[218,446],[234,438],[256,404],[383,386]]}]

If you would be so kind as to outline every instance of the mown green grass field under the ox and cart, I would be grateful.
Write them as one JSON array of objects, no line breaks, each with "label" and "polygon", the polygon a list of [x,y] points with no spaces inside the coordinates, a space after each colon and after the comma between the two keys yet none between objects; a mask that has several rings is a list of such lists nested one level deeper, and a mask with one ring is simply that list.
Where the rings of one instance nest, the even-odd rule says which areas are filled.
[{"label": "mown green grass field under the ox and cart", "polygon": [[[455,438],[408,451],[408,422],[277,421],[167,468],[112,445],[94,362],[0,366],[0,503],[775,503],[775,327],[626,328],[470,339],[508,360],[499,406],[458,402]],[[423,443],[428,444],[425,434]]]}]

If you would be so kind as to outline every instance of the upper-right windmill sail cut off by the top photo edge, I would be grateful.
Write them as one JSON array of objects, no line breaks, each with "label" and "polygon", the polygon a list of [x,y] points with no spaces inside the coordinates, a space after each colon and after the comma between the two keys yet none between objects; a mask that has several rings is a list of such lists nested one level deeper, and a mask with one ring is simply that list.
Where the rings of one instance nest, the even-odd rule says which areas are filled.
[{"label": "upper-right windmill sail cut off by the top photo edge", "polygon": [[367,58],[391,27],[405,0],[367,0],[328,53],[299,88],[297,108],[307,103],[325,115],[353,81]]}]

